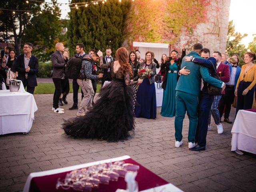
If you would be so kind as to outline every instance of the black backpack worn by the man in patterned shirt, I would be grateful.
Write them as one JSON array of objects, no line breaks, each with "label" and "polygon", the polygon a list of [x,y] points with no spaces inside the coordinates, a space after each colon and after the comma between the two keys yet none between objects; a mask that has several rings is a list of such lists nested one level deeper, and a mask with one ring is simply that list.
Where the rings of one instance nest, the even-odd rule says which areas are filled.
[{"label": "black backpack worn by the man in patterned shirt", "polygon": [[77,79],[80,73],[80,69],[82,66],[81,57],[74,56],[70,60],[68,60],[67,66],[65,68],[65,76],[69,79]]}]

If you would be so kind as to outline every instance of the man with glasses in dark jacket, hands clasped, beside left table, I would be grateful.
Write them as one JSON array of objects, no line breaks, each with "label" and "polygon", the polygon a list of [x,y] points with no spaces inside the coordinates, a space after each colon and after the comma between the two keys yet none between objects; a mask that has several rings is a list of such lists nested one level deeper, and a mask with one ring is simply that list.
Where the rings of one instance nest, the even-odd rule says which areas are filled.
[{"label": "man with glasses in dark jacket, hands clasped, beside left table", "polygon": [[16,71],[18,71],[17,79],[22,81],[27,92],[34,94],[35,86],[37,86],[38,58],[32,55],[32,49],[32,43],[24,44],[24,54],[17,58]]}]

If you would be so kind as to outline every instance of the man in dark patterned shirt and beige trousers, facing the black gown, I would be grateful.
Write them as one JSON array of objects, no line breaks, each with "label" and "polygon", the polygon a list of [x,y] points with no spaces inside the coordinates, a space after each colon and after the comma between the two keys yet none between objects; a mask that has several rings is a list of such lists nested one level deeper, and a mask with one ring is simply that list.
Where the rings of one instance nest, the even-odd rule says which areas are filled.
[{"label": "man in dark patterned shirt and beige trousers, facing the black gown", "polygon": [[94,96],[94,90],[92,87],[92,79],[102,78],[103,74],[93,75],[93,63],[98,62],[100,57],[97,52],[92,55],[86,55],[82,59],[82,66],[78,75],[77,83],[84,92],[84,98],[78,108],[76,116],[84,116],[86,109],[92,107],[92,100]]}]

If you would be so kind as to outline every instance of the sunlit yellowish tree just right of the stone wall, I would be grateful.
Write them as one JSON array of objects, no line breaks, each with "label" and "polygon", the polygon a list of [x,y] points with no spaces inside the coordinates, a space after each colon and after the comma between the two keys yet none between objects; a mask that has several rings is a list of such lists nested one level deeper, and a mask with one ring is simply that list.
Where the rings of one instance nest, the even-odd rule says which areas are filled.
[{"label": "sunlit yellowish tree just right of the stone wall", "polygon": [[246,37],[247,34],[241,34],[235,31],[235,26],[233,21],[228,23],[228,37],[227,37],[227,45],[226,45],[226,52],[229,56],[233,54],[237,54],[242,64],[244,53],[247,51],[244,44],[241,44],[242,38]]}]

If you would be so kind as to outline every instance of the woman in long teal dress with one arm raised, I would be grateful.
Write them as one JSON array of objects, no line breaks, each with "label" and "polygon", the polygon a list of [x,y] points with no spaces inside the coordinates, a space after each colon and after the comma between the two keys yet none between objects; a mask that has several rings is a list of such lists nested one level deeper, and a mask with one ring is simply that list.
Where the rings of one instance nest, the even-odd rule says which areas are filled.
[{"label": "woman in long teal dress with one arm raised", "polygon": [[164,117],[175,116],[175,94],[176,85],[179,78],[178,72],[182,58],[186,55],[186,49],[182,46],[182,56],[178,58],[178,51],[172,50],[170,59],[166,57],[161,64],[161,70],[164,72],[164,89],[161,115]]}]

